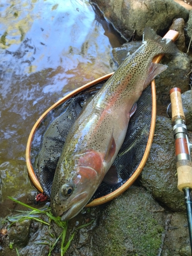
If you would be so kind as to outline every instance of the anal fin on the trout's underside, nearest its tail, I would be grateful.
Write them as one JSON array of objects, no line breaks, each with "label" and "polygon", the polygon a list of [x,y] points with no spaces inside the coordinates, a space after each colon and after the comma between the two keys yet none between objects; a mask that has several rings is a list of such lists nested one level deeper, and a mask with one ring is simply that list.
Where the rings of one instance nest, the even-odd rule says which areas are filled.
[{"label": "anal fin on the trout's underside, nearest its tail", "polygon": [[162,73],[164,70],[166,70],[167,66],[151,62],[150,67],[148,68],[148,76],[145,79],[143,89],[145,89],[148,84],[160,73]]}]

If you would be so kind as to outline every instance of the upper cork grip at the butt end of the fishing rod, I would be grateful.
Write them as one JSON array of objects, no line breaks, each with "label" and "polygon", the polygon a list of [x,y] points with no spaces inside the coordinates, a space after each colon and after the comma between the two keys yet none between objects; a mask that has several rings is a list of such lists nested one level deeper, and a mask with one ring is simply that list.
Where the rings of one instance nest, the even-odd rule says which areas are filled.
[{"label": "upper cork grip at the butt end of the fishing rod", "polygon": [[176,87],[170,90],[170,102],[172,102],[172,122],[177,118],[185,120],[181,100],[181,90],[179,88]]}]

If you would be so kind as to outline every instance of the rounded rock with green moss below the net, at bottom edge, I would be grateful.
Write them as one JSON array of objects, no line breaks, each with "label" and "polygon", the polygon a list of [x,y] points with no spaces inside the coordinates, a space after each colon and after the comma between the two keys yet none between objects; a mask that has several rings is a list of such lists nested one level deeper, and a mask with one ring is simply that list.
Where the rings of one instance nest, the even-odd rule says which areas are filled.
[{"label": "rounded rock with green moss below the net, at bottom edge", "polygon": [[145,189],[131,186],[102,212],[93,234],[94,255],[157,255],[164,216]]}]

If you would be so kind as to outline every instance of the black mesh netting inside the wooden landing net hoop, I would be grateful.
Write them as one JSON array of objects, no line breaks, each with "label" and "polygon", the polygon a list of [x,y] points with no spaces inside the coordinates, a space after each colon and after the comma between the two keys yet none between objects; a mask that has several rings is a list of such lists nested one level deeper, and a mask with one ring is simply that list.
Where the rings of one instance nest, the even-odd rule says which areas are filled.
[{"label": "black mesh netting inside the wooden landing net hoop", "polygon": [[[52,110],[42,120],[31,144],[31,162],[42,189],[50,197],[55,168],[68,131],[79,115],[83,103],[104,84],[102,81],[88,88]],[[152,117],[151,86],[145,89],[137,102],[137,110],[130,119],[125,140],[115,159],[121,182],[115,185],[101,183],[91,200],[108,195],[124,184],[137,169],[148,141]]]}]

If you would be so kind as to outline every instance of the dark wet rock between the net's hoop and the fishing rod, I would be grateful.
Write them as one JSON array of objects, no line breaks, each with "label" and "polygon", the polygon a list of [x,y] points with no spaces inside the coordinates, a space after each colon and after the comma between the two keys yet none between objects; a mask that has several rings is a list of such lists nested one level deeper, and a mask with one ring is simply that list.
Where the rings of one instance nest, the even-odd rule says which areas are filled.
[{"label": "dark wet rock between the net's hoop and the fishing rod", "polygon": [[171,120],[157,117],[150,155],[139,177],[155,199],[173,211],[185,211],[184,195],[177,189],[175,140]]}]

